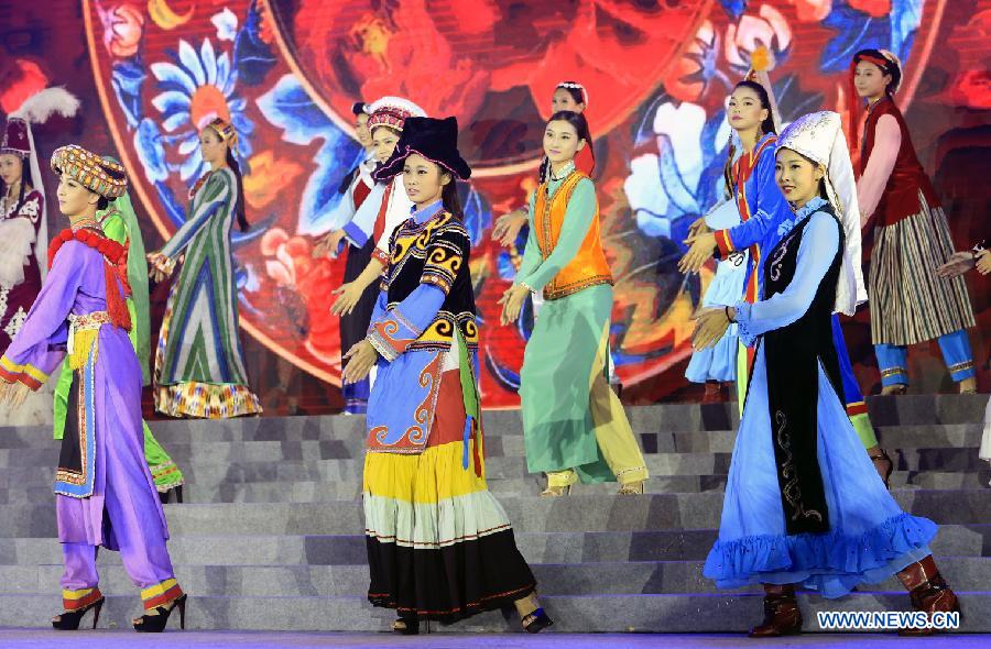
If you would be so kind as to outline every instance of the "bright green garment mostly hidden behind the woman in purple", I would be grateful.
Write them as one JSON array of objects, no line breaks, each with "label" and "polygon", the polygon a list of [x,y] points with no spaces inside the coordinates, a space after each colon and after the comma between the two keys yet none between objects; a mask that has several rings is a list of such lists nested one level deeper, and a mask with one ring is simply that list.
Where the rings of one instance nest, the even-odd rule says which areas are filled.
[{"label": "bright green garment mostly hidden behind the woman in purple", "polygon": [[[134,345],[138,361],[141,364],[142,385],[149,385],[151,372],[148,364],[150,352],[148,262],[144,258],[144,242],[141,239],[141,230],[138,227],[138,218],[131,206],[130,196],[124,194],[97,217],[100,219],[104,234],[128,246],[128,282],[131,285],[128,311],[131,314],[131,344]],[[135,234],[131,235],[132,232]],[[73,371],[68,364],[63,364],[58,382],[55,385],[55,439],[62,439],[65,430],[65,416],[72,384]],[[155,488],[164,494],[168,490],[182,486],[184,484],[183,472],[152,435],[148,424],[142,421],[142,425],[144,427],[144,459],[151,469]]]}]

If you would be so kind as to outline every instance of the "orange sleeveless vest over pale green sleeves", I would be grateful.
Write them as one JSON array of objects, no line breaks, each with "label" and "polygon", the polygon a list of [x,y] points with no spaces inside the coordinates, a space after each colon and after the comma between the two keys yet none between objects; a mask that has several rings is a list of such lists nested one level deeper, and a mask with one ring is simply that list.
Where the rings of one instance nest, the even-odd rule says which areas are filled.
[{"label": "orange sleeveless vest over pale green sleeves", "polygon": [[[551,256],[554,246],[557,245],[571,193],[582,178],[588,176],[581,172],[573,172],[549,200],[547,199],[549,180],[537,189],[533,221],[541,256],[544,260]],[[599,204],[596,201],[596,213],[588,234],[578,249],[578,254],[544,286],[544,299],[559,299],[599,284],[612,284],[612,273],[602,251],[599,235]]]}]

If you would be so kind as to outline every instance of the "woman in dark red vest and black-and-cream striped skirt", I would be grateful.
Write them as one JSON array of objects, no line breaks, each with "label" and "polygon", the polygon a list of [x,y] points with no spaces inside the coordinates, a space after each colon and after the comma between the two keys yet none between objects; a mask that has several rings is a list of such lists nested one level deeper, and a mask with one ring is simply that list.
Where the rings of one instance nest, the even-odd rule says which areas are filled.
[{"label": "woman in dark red vest and black-and-cream striped skirt", "polygon": [[856,116],[850,140],[852,150],[860,147],[861,226],[874,228],[868,293],[882,394],[905,393],[908,345],[934,338],[960,392],[972,393],[977,373],[966,329],[974,326],[973,311],[962,278],[937,276],[954,248],[946,215],[892,97],[901,64],[891,52],[862,50],[851,67],[852,86],[867,100],[863,140]]}]

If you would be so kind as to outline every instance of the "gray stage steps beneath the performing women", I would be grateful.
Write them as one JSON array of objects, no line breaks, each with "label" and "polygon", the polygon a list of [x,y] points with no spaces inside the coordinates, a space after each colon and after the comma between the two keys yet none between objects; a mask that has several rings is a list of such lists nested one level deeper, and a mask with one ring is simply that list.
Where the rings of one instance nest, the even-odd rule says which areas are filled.
[{"label": "gray stage steps beneath the performing women", "polygon": [[[941,524],[933,544],[963,601],[963,629],[991,631],[991,470],[977,458],[987,396],[871,400],[896,463],[894,494]],[[761,616],[758,588],[721,592],[701,576],[716,538],[736,406],[629,410],[653,479],[643,496],[616,485],[537,496],[525,472],[519,414],[486,414],[490,486],[533,565],[555,629],[742,631]],[[368,568],[360,473],[363,419],[297,417],[157,421],[153,429],[187,477],[187,504],[168,505],[170,550],[190,594],[187,624],[209,629],[388,628],[363,597]],[[0,626],[44,626],[58,612],[61,551],[51,481],[57,443],[45,428],[0,428]],[[101,552],[108,604],[100,626],[139,613],[119,558]],[[894,579],[840,601],[803,595],[816,610],[905,610]],[[511,630],[490,613],[451,630]]]}]

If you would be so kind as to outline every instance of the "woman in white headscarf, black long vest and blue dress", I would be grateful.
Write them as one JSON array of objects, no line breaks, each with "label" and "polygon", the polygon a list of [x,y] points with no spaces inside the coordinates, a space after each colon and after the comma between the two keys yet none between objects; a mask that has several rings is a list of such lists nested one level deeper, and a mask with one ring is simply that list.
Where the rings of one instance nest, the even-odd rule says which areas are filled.
[{"label": "woman in white headscarf, black long vest and blue dress", "polygon": [[736,322],[756,349],[704,573],[720,587],[764,586],[765,617],[752,636],[802,630],[796,585],[840,597],[897,574],[916,609],[958,610],[928,548],[936,524],[892,498],[839,396],[832,312],[851,314],[863,297],[859,213],[843,209],[856,188],[840,117],[796,120],[775,157],[795,215],[766,251],[763,299],[704,311],[695,334],[704,348]]}]

